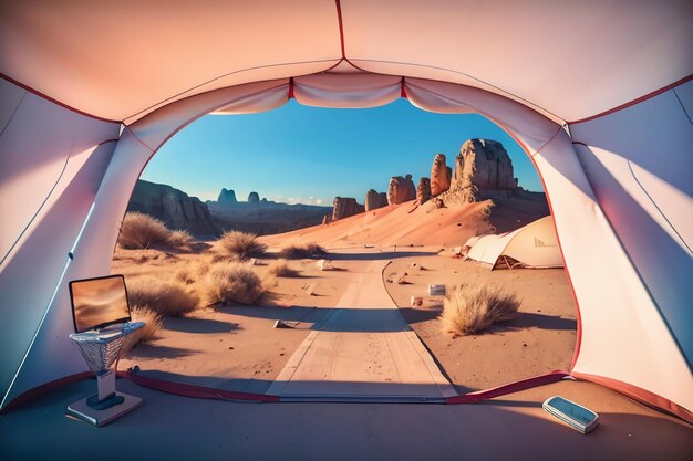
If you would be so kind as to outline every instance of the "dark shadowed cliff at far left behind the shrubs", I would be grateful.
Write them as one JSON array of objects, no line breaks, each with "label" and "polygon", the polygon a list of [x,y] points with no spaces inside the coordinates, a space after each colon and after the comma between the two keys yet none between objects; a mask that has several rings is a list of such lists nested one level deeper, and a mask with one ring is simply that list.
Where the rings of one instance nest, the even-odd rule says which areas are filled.
[{"label": "dark shadowed cliff at far left behind the shrubs", "polygon": [[167,185],[137,180],[127,211],[153,216],[169,229],[186,230],[195,237],[219,234],[219,229],[205,203],[197,197],[189,197]]}]

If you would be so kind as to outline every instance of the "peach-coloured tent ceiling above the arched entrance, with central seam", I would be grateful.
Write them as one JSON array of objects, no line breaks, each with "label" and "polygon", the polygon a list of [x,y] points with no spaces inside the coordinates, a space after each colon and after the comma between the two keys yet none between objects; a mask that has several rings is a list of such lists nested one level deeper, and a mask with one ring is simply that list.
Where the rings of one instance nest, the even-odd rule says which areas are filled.
[{"label": "peach-coloured tent ceiling above the arched entrance, with central seam", "polygon": [[2,2],[0,72],[80,111],[136,119],[205,91],[359,67],[446,80],[554,119],[610,109],[693,73],[686,1]]}]

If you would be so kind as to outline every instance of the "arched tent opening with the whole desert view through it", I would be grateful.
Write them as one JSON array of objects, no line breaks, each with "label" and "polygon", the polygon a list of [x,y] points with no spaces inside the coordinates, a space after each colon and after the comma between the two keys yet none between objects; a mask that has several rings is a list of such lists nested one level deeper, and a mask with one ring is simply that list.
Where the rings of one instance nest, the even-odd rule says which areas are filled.
[{"label": "arched tent opening with the whole desert view through it", "polygon": [[[111,272],[157,328],[121,367],[228,391],[405,401],[569,369],[577,308],[562,263],[490,272],[458,251],[540,221],[554,229],[534,165],[476,114],[290,101],[201,117],[130,198]],[[162,223],[159,241],[143,241]],[[464,303],[494,296],[518,312],[455,326]]]}]

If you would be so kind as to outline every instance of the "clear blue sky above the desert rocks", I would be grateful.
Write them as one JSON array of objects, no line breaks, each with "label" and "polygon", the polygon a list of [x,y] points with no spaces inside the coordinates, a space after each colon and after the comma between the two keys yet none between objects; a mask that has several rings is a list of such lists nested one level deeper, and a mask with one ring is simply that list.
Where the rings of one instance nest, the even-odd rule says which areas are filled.
[{"label": "clear blue sky above the desert rocks", "polygon": [[391,176],[430,176],[436,153],[453,167],[469,138],[503,143],[520,186],[542,190],[523,149],[493,122],[476,114],[434,114],[397,99],[368,109],[302,106],[291,99],[276,111],[208,115],[169,139],[142,179],[170,185],[203,200],[223,187],[239,200],[250,191],[285,202],[332,205],[335,196],[363,202],[368,189],[386,191]]}]

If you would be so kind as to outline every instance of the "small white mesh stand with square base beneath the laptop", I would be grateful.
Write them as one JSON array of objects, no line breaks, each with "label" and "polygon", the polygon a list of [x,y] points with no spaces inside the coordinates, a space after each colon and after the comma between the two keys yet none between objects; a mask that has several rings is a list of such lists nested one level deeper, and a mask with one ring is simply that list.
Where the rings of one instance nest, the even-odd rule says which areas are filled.
[{"label": "small white mesh stand with square base beneath the laptop", "polygon": [[94,426],[105,426],[142,405],[139,397],[115,390],[115,370],[111,366],[121,355],[127,336],[144,325],[144,322],[131,322],[70,335],[89,369],[96,375],[97,391],[70,405],[69,415]]}]

